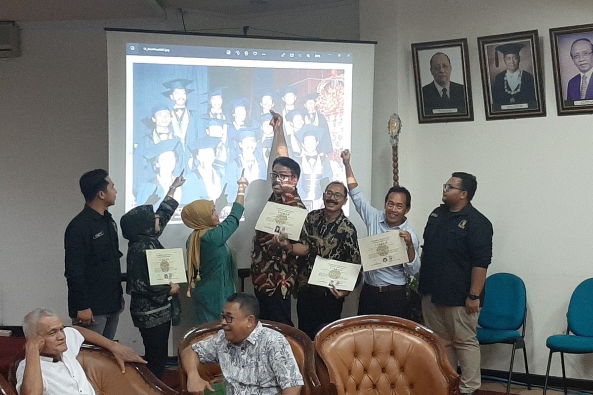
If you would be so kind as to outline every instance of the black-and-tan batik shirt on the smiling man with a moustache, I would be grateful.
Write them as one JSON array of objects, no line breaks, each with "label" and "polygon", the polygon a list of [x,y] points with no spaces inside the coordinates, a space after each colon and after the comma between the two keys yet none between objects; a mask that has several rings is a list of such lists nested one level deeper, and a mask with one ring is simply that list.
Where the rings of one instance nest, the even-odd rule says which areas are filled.
[{"label": "black-and-tan batik shirt on the smiling man with a moustache", "polygon": [[307,284],[317,255],[335,261],[361,263],[358,237],[352,222],[341,211],[339,217],[328,223],[324,211],[324,208],[313,210],[305,220],[307,239],[303,242],[310,246],[310,253],[307,262],[299,270],[299,285]]}]

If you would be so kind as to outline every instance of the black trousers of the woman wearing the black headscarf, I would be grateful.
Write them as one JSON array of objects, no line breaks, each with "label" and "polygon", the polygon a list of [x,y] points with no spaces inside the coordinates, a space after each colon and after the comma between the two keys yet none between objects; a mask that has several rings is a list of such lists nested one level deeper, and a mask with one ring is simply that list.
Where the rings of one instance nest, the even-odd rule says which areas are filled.
[{"label": "black trousers of the woman wearing the black headscarf", "polygon": [[139,328],[144,343],[146,367],[157,378],[162,378],[168,358],[169,332],[171,320],[151,328]]}]

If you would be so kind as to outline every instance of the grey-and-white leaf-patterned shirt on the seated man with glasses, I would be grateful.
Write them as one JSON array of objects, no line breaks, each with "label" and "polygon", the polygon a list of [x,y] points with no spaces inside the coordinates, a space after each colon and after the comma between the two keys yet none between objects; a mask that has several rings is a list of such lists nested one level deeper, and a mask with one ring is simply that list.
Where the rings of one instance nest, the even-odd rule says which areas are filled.
[{"label": "grey-and-white leaf-patterned shirt on the seated man with glasses", "polygon": [[224,330],[219,330],[216,336],[194,343],[192,349],[200,362],[221,365],[228,395],[276,395],[304,384],[286,338],[261,322],[241,344],[229,342]]}]

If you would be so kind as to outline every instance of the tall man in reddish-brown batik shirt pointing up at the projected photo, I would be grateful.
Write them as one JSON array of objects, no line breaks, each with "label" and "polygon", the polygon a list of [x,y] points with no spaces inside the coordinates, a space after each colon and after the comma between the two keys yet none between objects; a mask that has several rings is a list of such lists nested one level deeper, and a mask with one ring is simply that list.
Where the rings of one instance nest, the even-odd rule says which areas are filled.
[{"label": "tall man in reddish-brown batik shirt pointing up at the projected photo", "polygon": [[[272,194],[268,201],[305,208],[297,191],[301,168],[288,158],[288,147],[282,128],[280,114],[270,110],[274,129],[269,166]],[[281,234],[256,230],[251,253],[251,281],[259,301],[260,316],[264,320],[281,322],[294,326],[291,318],[291,295],[296,293],[295,282],[299,258],[308,253],[302,243],[292,243]],[[305,239],[304,232],[301,239]]]}]

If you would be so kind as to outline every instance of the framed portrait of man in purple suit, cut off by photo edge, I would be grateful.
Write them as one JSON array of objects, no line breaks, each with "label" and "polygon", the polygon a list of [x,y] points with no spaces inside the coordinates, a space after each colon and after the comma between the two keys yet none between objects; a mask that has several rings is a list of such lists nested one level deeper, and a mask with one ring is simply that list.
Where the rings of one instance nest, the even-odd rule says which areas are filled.
[{"label": "framed portrait of man in purple suit, cut off by photo edge", "polygon": [[558,115],[593,114],[593,24],[550,29]]}]

